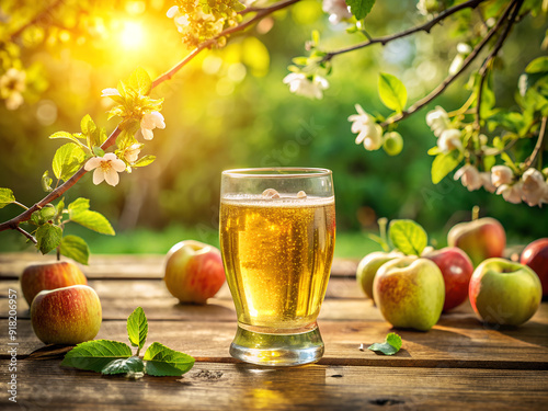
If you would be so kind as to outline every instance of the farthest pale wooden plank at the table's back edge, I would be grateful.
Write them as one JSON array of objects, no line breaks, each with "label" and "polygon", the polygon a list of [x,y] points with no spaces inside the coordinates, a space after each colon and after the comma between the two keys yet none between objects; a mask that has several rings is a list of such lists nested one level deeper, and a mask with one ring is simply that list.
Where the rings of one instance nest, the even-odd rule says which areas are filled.
[{"label": "farthest pale wooden plank at the table's back edge", "polygon": [[[31,252],[0,253],[0,279],[16,279],[24,267],[32,263],[54,261],[54,255]],[[162,278],[165,255],[162,254],[94,254],[90,265],[81,266],[88,278]],[[333,277],[352,277],[357,261],[335,259],[331,267]]]}]

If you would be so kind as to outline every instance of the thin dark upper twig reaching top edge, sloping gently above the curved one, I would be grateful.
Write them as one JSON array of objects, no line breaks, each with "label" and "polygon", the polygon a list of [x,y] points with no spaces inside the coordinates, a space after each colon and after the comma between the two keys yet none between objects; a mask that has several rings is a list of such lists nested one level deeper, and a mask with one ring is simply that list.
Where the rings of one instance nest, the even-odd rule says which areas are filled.
[{"label": "thin dark upper twig reaching top edge, sloping gently above the curved one", "polygon": [[414,34],[414,33],[418,33],[418,32],[430,33],[430,31],[432,30],[432,27],[434,27],[441,21],[447,19],[449,15],[455,14],[455,13],[459,12],[460,10],[476,9],[483,1],[486,1],[486,0],[468,0],[468,1],[465,1],[464,3],[457,4],[457,5],[453,7],[453,8],[449,8],[447,10],[443,11],[442,13],[439,13],[438,15],[436,15],[434,19],[432,19],[431,21],[429,21],[429,22],[426,22],[424,24],[421,24],[421,25],[418,25],[418,26],[404,30],[403,32],[400,32],[400,33],[397,33],[397,34],[392,34],[392,35],[388,35],[388,36],[370,38],[370,39],[368,39],[366,42],[358,43],[358,44],[355,44],[355,45],[350,46],[350,47],[341,48],[339,50],[328,52],[326,54],[326,56],[323,56],[323,58],[320,60],[320,62],[329,61],[334,56],[338,56],[338,55],[344,54],[344,53],[349,53],[349,52],[354,52],[354,50],[357,50],[359,48],[365,48],[365,47],[368,47],[368,46],[370,46],[373,44],[380,44],[380,45],[385,46],[386,44],[388,44],[390,42],[393,42],[395,39],[407,37],[407,36],[410,36],[411,34]]}]

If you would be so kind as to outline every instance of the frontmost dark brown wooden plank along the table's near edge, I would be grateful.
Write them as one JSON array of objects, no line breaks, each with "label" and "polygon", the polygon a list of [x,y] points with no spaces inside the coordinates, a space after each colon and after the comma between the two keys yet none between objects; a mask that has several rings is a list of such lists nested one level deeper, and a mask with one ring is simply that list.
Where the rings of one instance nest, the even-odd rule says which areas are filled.
[{"label": "frontmost dark brown wooden plank along the table's near edge", "polygon": [[547,374],[196,363],[183,377],[134,381],[60,367],[56,359],[21,361],[18,403],[9,402],[4,392],[0,404],[52,410],[535,410],[548,402]]}]

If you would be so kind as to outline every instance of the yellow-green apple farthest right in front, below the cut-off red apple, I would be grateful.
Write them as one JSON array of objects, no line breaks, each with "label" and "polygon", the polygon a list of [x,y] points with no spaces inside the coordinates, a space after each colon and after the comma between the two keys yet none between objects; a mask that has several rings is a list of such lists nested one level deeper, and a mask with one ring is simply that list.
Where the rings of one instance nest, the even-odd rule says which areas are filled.
[{"label": "yellow-green apple farthest right in front, below the cut-off red apple", "polygon": [[543,287],[527,265],[488,259],[473,271],[468,294],[473,311],[483,321],[520,326],[537,311]]}]

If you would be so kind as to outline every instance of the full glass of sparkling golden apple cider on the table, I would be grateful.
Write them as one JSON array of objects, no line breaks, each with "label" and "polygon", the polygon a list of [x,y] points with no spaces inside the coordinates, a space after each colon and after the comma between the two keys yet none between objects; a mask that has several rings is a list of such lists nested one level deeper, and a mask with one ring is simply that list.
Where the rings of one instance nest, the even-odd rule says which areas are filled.
[{"label": "full glass of sparkling golden apple cider on the table", "polygon": [[238,315],[230,354],[274,366],[321,358],[316,320],[335,242],[331,171],[224,171],[219,230]]}]

